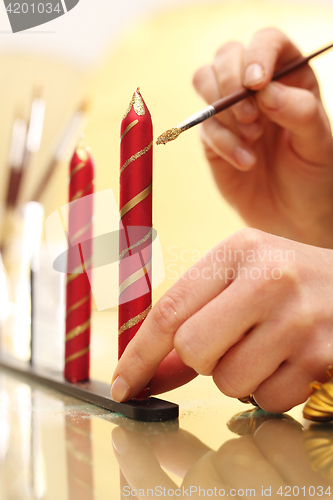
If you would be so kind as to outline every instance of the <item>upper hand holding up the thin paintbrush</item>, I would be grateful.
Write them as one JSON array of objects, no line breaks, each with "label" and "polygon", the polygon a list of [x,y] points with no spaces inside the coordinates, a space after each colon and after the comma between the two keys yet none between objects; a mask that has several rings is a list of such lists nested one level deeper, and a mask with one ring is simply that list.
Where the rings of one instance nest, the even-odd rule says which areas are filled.
[{"label": "upper hand holding up the thin paintbrush", "polygon": [[205,121],[201,138],[220,191],[252,227],[333,248],[333,140],[309,66],[271,81],[301,55],[280,31],[223,45],[194,86],[207,103],[257,90]]}]

